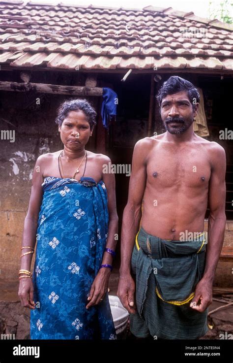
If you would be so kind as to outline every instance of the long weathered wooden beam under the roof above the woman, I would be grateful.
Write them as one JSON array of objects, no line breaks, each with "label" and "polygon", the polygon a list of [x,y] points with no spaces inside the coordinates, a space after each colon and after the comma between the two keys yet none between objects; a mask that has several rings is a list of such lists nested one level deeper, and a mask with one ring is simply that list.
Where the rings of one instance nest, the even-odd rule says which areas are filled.
[{"label": "long weathered wooden beam under the roof above the woman", "polygon": [[101,87],[60,86],[43,83],[18,83],[0,81],[0,91],[52,93],[55,95],[102,96]]}]

